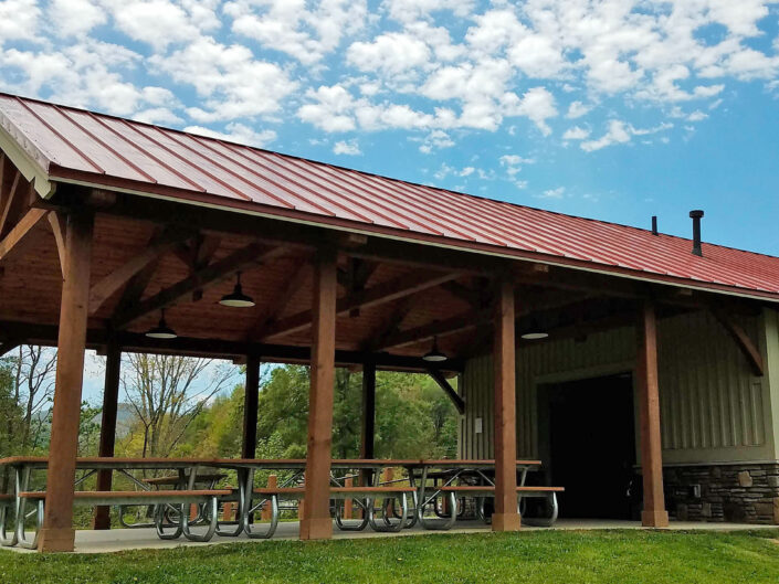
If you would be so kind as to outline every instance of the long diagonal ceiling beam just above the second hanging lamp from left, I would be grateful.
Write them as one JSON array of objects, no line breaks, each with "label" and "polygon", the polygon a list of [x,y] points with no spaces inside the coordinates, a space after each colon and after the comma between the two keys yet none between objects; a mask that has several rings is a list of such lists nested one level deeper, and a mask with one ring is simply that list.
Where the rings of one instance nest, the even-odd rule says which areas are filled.
[{"label": "long diagonal ceiling beam just above the second hanging lamp from left", "polygon": [[141,300],[135,307],[128,308],[127,311],[117,315],[112,319],[113,329],[125,329],[139,318],[176,304],[188,294],[191,294],[192,290],[219,284],[227,276],[257,259],[270,261],[284,253],[286,253],[286,249],[283,247],[275,247],[269,251],[267,246],[259,243],[252,243],[242,247],[229,256],[204,267],[197,274],[192,274],[159,291],[151,298]]}]

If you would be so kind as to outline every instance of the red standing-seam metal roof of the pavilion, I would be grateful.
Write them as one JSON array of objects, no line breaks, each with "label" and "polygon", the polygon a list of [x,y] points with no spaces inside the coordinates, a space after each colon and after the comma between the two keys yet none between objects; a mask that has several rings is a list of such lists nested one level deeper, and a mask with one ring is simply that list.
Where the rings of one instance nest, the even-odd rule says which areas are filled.
[{"label": "red standing-seam metal roof of the pavilion", "polygon": [[[2,127],[51,180],[336,225],[657,282],[779,298],[779,258],[409,183],[0,94]],[[686,280],[686,282],[685,282]]]}]

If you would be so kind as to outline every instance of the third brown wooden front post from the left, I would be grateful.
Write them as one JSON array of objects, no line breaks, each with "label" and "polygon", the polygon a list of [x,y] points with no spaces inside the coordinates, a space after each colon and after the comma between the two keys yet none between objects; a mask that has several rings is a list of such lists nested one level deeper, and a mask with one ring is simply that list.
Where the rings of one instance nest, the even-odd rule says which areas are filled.
[{"label": "third brown wooden front post from the left", "polygon": [[515,396],[514,286],[498,284],[495,306],[495,512],[493,531],[516,531],[517,512],[517,431]]}]

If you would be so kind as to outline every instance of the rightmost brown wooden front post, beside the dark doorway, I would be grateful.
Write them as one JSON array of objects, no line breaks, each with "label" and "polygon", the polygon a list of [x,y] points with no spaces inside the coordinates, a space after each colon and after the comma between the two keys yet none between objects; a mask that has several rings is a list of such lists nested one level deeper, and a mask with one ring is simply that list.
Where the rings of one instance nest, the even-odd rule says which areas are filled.
[{"label": "rightmost brown wooden front post, beside the dark doorway", "polygon": [[660,389],[657,385],[657,321],[654,305],[643,302],[639,316],[635,374],[639,383],[641,420],[641,472],[644,510],[641,523],[648,528],[669,527],[663,496],[663,454],[660,436]]}]

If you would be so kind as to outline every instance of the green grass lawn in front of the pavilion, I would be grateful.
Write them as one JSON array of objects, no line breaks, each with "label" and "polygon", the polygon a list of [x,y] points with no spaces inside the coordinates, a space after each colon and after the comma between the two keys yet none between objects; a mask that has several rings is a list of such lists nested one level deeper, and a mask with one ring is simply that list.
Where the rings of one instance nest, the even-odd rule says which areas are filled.
[{"label": "green grass lawn in front of the pavilion", "polygon": [[779,583],[779,530],[536,531],[271,541],[99,555],[0,552],[0,582]]}]

